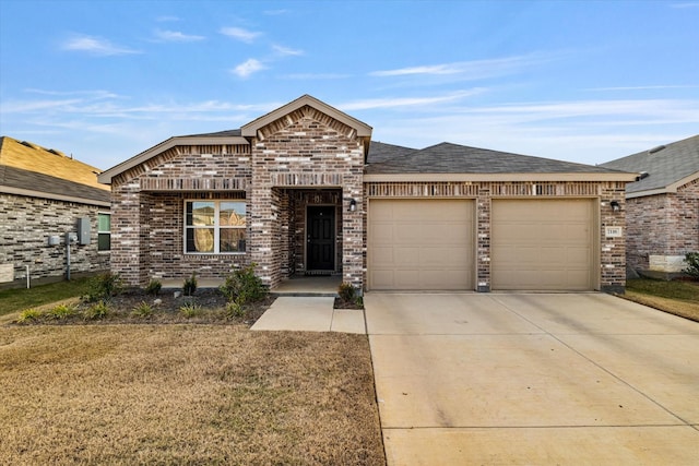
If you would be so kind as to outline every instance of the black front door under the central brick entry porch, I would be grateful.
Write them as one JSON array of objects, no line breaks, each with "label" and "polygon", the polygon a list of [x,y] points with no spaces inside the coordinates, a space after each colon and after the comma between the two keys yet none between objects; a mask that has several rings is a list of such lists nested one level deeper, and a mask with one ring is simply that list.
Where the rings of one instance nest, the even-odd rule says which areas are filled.
[{"label": "black front door under the central brick entry porch", "polygon": [[332,271],[335,267],[335,206],[308,206],[307,271]]}]

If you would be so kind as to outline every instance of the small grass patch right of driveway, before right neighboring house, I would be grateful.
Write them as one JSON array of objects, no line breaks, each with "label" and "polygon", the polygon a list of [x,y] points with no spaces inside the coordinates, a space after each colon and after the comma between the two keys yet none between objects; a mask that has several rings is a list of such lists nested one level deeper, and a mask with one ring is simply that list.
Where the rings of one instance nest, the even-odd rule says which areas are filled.
[{"label": "small grass patch right of driveway, before right neighboring house", "polygon": [[699,322],[699,283],[655,280],[626,282],[625,298]]}]

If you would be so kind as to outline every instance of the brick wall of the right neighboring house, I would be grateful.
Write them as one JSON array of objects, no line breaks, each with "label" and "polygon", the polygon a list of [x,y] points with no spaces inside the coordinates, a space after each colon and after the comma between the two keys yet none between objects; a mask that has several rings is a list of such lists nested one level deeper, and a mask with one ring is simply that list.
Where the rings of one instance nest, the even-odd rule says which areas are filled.
[{"label": "brick wall of the right neighboring house", "polygon": [[631,198],[627,211],[627,253],[635,270],[677,272],[677,267],[666,271],[651,266],[650,258],[664,258],[667,264],[674,262],[673,258],[699,251],[699,180],[678,188],[676,193]]}]

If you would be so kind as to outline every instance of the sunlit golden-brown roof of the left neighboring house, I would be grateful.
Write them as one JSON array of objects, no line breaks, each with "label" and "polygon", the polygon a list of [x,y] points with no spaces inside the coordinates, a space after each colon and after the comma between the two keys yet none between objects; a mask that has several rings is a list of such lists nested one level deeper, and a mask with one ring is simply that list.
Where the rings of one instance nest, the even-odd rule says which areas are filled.
[{"label": "sunlit golden-brown roof of the left neighboring house", "polygon": [[0,138],[0,190],[20,195],[109,205],[109,188],[98,168],[59,151]]}]

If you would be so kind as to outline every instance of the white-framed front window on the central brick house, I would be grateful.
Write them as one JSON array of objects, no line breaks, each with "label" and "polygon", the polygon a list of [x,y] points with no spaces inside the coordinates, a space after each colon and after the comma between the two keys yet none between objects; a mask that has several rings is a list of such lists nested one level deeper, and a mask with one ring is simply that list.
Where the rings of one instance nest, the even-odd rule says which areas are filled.
[{"label": "white-framed front window on the central brick house", "polygon": [[187,201],[185,252],[245,252],[245,201]]}]

